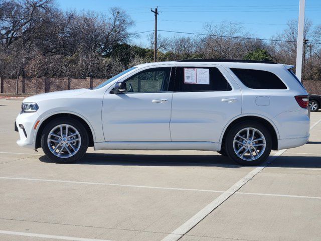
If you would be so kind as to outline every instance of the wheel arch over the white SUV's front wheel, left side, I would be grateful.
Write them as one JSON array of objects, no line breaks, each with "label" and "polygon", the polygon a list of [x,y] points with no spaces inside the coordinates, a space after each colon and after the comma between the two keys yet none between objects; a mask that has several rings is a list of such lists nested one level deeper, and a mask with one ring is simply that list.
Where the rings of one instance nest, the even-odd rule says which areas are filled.
[{"label": "wheel arch over the white SUV's front wheel, left side", "polygon": [[92,126],[90,125],[90,123],[86,120],[85,117],[76,114],[74,112],[59,112],[59,113],[51,113],[47,116],[45,116],[39,123],[36,133],[35,133],[35,149],[40,148],[41,147],[41,135],[42,132],[45,128],[45,126],[51,122],[53,119],[58,118],[58,117],[69,117],[69,118],[73,118],[76,119],[77,121],[79,121],[81,124],[83,124],[84,128],[86,129],[87,133],[88,133],[88,137],[89,137],[89,147],[93,147],[94,146],[94,140],[95,140],[95,133],[93,131]]}]

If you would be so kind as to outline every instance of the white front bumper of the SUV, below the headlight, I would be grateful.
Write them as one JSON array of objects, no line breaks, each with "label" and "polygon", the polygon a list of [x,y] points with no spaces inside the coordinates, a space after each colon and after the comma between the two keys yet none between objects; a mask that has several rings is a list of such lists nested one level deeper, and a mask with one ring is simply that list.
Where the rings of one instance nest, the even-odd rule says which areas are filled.
[{"label": "white front bumper of the SUV, below the headlight", "polygon": [[36,130],[34,127],[38,118],[39,115],[37,112],[20,113],[17,116],[15,122],[15,131],[19,132],[20,139],[17,141],[17,144],[20,147],[36,149]]}]

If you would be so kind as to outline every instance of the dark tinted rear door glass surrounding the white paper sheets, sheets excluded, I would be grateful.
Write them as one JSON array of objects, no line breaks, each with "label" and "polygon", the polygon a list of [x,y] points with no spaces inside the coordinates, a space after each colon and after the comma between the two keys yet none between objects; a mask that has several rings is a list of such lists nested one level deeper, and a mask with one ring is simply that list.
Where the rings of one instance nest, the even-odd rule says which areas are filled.
[{"label": "dark tinted rear door glass surrounding the white paper sheets, sheets excluded", "polygon": [[[184,68],[189,69],[209,69],[209,84],[198,84],[198,83],[184,83]],[[176,68],[176,79],[174,91],[226,91],[232,90],[230,84],[226,81],[225,77],[218,68],[206,68],[206,67],[177,67]]]}]

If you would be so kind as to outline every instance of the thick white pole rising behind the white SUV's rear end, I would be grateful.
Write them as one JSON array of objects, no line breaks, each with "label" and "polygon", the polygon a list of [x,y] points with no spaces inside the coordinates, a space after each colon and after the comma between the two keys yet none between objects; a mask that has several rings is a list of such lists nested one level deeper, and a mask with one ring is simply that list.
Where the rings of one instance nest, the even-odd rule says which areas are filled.
[{"label": "thick white pole rising behind the white SUV's rear end", "polygon": [[300,0],[299,21],[298,21],[299,23],[298,23],[298,29],[297,29],[296,66],[295,66],[295,75],[300,81],[302,76],[304,9],[305,9],[305,0]]}]

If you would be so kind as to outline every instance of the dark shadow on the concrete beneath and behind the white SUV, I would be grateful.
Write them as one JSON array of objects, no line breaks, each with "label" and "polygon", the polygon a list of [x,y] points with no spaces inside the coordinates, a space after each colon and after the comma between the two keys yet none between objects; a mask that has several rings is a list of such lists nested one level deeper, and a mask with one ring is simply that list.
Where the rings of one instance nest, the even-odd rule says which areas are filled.
[{"label": "dark shadow on the concrete beneath and behind the white SUV", "polygon": [[[53,163],[46,156],[41,162]],[[104,154],[86,153],[72,164],[115,165],[115,166],[188,166],[242,168],[232,160],[221,155],[141,155],[141,154]],[[316,156],[278,156],[268,167],[321,168],[321,154]]]}]

